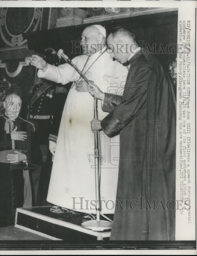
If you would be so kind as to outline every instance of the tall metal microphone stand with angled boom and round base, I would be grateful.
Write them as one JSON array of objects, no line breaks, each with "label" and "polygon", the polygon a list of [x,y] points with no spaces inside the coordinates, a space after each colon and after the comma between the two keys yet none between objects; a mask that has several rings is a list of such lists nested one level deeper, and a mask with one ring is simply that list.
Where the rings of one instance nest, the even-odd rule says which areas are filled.
[{"label": "tall metal microphone stand with angled boom and round base", "polygon": [[[69,63],[83,79],[89,84],[90,81],[86,76],[74,65],[74,63],[63,53],[63,50],[58,51],[58,55],[61,56],[67,63]],[[97,98],[94,95],[94,119],[98,119],[97,113]],[[94,130],[94,161],[95,161],[95,184],[96,184],[96,219],[88,220],[81,224],[82,227],[92,229],[95,231],[103,231],[106,229],[112,229],[112,222],[100,219],[100,191],[99,191],[99,130]]]}]

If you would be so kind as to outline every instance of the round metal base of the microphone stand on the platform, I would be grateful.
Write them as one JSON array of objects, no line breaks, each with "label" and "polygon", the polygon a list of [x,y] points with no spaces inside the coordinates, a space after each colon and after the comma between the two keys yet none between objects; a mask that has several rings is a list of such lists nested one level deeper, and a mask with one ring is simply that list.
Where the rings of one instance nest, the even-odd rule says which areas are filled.
[{"label": "round metal base of the microphone stand on the platform", "polygon": [[88,220],[81,224],[83,228],[92,229],[93,231],[103,231],[112,229],[112,222],[107,220]]}]

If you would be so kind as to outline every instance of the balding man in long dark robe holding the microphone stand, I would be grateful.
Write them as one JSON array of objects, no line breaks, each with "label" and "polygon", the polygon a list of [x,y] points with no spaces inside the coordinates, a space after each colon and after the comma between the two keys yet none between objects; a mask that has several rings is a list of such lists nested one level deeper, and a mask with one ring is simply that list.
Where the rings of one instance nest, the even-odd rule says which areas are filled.
[{"label": "balding man in long dark robe holding the microphone stand", "polygon": [[[119,175],[111,240],[174,240],[176,101],[167,71],[118,28],[107,39],[111,57],[129,72],[122,96],[88,87],[110,112],[100,133],[120,133]],[[121,50],[117,45],[121,44]],[[119,47],[120,48],[120,47]],[[113,88],[115,89],[115,87]],[[117,88],[116,88],[117,89]]]}]

